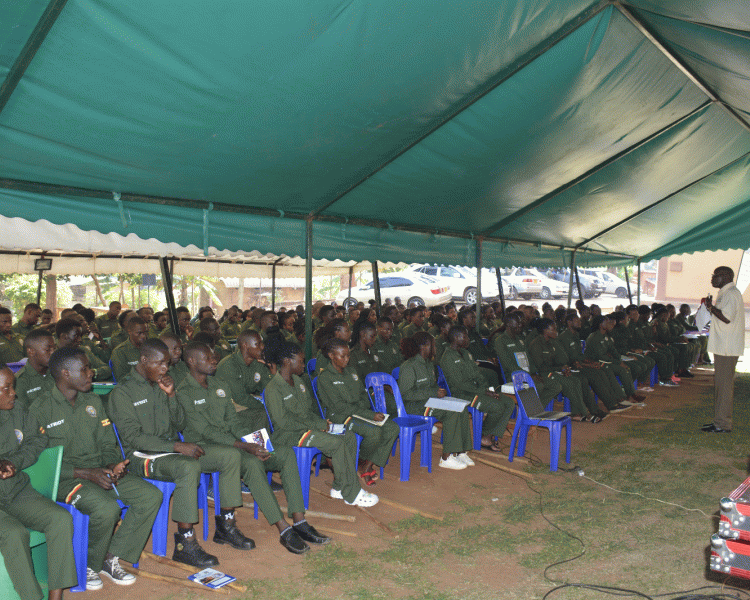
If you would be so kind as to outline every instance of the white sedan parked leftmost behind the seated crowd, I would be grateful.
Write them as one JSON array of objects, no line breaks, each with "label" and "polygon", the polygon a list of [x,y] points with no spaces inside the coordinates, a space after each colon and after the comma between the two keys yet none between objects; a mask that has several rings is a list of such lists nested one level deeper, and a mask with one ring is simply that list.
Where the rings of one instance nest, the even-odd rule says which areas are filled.
[{"label": "white sedan parked leftmost behind the seated crowd", "polygon": [[[447,285],[438,282],[433,277],[410,271],[387,273],[380,277],[381,299],[385,302],[386,298],[394,299],[396,296],[400,297],[406,306],[414,303],[422,306],[435,306],[451,301],[451,292]],[[374,299],[375,287],[371,281],[351,290],[342,290],[336,296],[336,303],[349,307],[352,303],[366,303]]]}]

